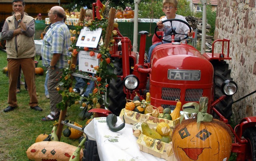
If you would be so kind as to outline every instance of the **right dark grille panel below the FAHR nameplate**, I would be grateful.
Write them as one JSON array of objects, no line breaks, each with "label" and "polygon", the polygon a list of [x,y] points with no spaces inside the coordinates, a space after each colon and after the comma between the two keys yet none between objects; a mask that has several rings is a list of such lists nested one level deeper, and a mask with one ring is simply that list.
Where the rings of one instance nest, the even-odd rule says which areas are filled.
[{"label": "right dark grille panel below the FAHR nameplate", "polygon": [[198,102],[200,97],[203,96],[203,89],[186,89],[185,101]]}]

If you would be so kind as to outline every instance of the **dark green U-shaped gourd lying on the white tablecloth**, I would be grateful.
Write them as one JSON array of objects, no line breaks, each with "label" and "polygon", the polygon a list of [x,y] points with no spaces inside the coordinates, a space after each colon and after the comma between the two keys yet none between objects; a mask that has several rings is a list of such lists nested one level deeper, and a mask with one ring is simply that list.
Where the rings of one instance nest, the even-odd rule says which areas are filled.
[{"label": "dark green U-shaped gourd lying on the white tablecloth", "polygon": [[[123,120],[124,120],[124,115],[123,115]],[[125,120],[124,123],[122,123],[121,125],[119,125],[118,127],[115,127],[116,122],[117,122],[117,117],[115,114],[109,114],[106,117],[106,122],[108,125],[108,128],[112,131],[112,132],[118,132],[120,130],[122,130],[125,126]]]}]

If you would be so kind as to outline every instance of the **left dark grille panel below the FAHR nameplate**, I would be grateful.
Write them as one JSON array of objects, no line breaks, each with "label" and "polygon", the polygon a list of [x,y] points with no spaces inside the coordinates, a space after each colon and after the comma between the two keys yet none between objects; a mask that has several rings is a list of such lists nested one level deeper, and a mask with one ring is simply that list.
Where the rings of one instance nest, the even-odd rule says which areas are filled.
[{"label": "left dark grille panel below the FAHR nameplate", "polygon": [[175,101],[180,99],[180,89],[179,88],[162,88],[162,99]]}]

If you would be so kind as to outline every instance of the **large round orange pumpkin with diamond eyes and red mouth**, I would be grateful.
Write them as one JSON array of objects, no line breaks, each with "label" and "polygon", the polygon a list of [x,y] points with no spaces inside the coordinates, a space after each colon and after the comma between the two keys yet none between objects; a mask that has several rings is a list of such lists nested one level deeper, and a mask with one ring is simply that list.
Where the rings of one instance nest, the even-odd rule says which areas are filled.
[{"label": "large round orange pumpkin with diamond eyes and red mouth", "polygon": [[172,149],[180,161],[226,161],[231,147],[230,129],[216,119],[201,122],[199,130],[196,119],[184,120],[172,134]]}]

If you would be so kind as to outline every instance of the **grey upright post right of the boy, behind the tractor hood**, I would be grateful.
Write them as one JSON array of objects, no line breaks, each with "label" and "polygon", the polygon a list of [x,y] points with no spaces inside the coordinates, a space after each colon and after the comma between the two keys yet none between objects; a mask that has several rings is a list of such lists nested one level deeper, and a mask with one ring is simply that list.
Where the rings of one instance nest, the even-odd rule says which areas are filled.
[{"label": "grey upright post right of the boy, behind the tractor hood", "polygon": [[206,5],[207,0],[200,0],[203,5],[203,18],[202,18],[202,44],[201,44],[201,54],[205,53],[205,43],[206,43]]}]

